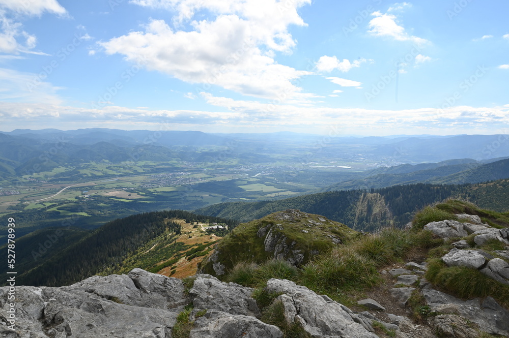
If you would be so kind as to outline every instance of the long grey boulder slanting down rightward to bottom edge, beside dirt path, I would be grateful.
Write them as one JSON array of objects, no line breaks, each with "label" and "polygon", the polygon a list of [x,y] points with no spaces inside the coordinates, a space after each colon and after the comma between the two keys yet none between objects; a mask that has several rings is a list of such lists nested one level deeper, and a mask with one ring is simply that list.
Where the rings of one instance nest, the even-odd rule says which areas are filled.
[{"label": "long grey boulder slanting down rightward to bottom edge, beside dirt path", "polygon": [[378,338],[365,328],[369,327],[369,323],[362,325],[354,321],[353,317],[357,321],[362,321],[360,316],[340,303],[325,300],[306,287],[287,280],[270,279],[266,289],[269,292],[282,292],[291,297],[297,312],[295,320],[300,321],[304,329],[313,336]]}]

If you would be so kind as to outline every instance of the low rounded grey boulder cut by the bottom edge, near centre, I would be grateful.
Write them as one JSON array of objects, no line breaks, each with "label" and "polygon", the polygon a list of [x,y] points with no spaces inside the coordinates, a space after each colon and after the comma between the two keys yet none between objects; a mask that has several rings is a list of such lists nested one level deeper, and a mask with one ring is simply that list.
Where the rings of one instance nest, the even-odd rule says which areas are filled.
[{"label": "low rounded grey boulder cut by the bottom edge, near centre", "polygon": [[282,338],[283,333],[274,325],[265,324],[254,317],[232,315],[221,311],[207,311],[194,322],[189,338]]}]

